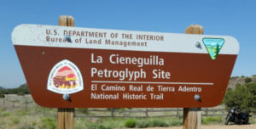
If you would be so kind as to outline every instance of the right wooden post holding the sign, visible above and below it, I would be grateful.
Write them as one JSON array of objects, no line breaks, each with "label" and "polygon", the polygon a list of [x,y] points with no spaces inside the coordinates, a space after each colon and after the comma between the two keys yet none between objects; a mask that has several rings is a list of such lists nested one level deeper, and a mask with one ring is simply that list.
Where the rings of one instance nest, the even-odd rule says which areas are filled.
[{"label": "right wooden post holding the sign, visible above and below it", "polygon": [[[186,29],[186,34],[203,33],[201,25],[190,25]],[[201,108],[183,108],[183,129],[201,129]]]}]

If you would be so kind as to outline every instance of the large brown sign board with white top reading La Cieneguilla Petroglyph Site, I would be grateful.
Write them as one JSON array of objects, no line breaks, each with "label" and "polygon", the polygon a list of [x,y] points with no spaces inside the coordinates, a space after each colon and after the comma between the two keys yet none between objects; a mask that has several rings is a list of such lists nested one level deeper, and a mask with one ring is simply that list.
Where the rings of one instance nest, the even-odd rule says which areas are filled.
[{"label": "large brown sign board with white top reading La Cieneguilla Petroglyph Site", "polygon": [[44,107],[212,107],[239,44],[232,36],[19,25],[12,34]]}]

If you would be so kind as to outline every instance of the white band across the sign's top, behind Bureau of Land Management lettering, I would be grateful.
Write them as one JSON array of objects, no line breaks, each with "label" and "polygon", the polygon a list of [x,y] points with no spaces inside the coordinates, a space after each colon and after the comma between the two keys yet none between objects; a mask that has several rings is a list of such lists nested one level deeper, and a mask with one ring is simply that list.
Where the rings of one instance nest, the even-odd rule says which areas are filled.
[{"label": "white band across the sign's top, behind Bureau of Land Management lettering", "polygon": [[[67,30],[67,31],[102,31],[107,33],[131,33],[134,35],[159,35],[164,36],[165,41],[155,42],[155,41],[143,41],[148,42],[148,48],[120,48],[119,46],[103,46],[103,45],[86,45],[86,44],[57,44],[55,42],[46,42],[45,37],[47,36],[47,31],[45,29],[55,29],[55,30]],[[67,29],[66,29],[67,28]],[[64,35],[64,34],[63,34]],[[75,36],[70,36],[74,38]],[[94,29],[94,28],[82,28],[82,27],[67,27],[67,26],[57,26],[57,25],[32,25],[32,24],[21,24],[15,27],[12,32],[12,41],[14,45],[23,46],[41,46],[41,47],[58,47],[58,48],[99,48],[99,49],[117,49],[117,50],[138,50],[138,51],[155,51],[155,52],[186,52],[186,53],[207,53],[206,48],[195,48],[195,42],[202,42],[201,40],[205,37],[208,38],[224,38],[225,41],[229,42],[223,48],[219,54],[238,54],[239,43],[233,36],[212,36],[212,35],[189,35],[189,34],[179,34],[179,33],[167,33],[167,32],[150,32],[150,31],[122,31],[122,30],[109,30],[109,29]],[[65,36],[60,36],[58,38],[65,39]],[[111,38],[110,38],[111,39]],[[103,39],[105,40],[105,39]],[[114,40],[114,39],[113,39]],[[115,39],[120,40],[120,39]],[[125,42],[135,42],[136,40],[126,41],[126,39],[121,39]],[[121,41],[120,40],[120,41]],[[142,42],[138,40],[137,42]],[[178,42],[178,43],[177,43]],[[186,42],[187,45],[181,45],[181,42]],[[163,44],[164,43],[164,44]],[[235,45],[233,44],[235,43]],[[106,42],[105,42],[106,44]],[[159,45],[161,44],[161,45]],[[163,47],[166,45],[166,47]],[[106,48],[107,47],[107,48]],[[175,47],[175,48],[173,48]]]}]

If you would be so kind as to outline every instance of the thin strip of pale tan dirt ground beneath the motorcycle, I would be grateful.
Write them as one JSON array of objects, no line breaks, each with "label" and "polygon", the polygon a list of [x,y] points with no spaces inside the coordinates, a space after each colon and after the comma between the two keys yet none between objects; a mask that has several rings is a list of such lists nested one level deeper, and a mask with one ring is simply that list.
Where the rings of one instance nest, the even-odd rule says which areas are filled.
[{"label": "thin strip of pale tan dirt ground beneath the motorcycle", "polygon": [[[183,126],[176,127],[154,127],[147,129],[182,129]],[[253,125],[209,125],[209,126],[201,126],[201,129],[256,129],[256,124]]]}]

